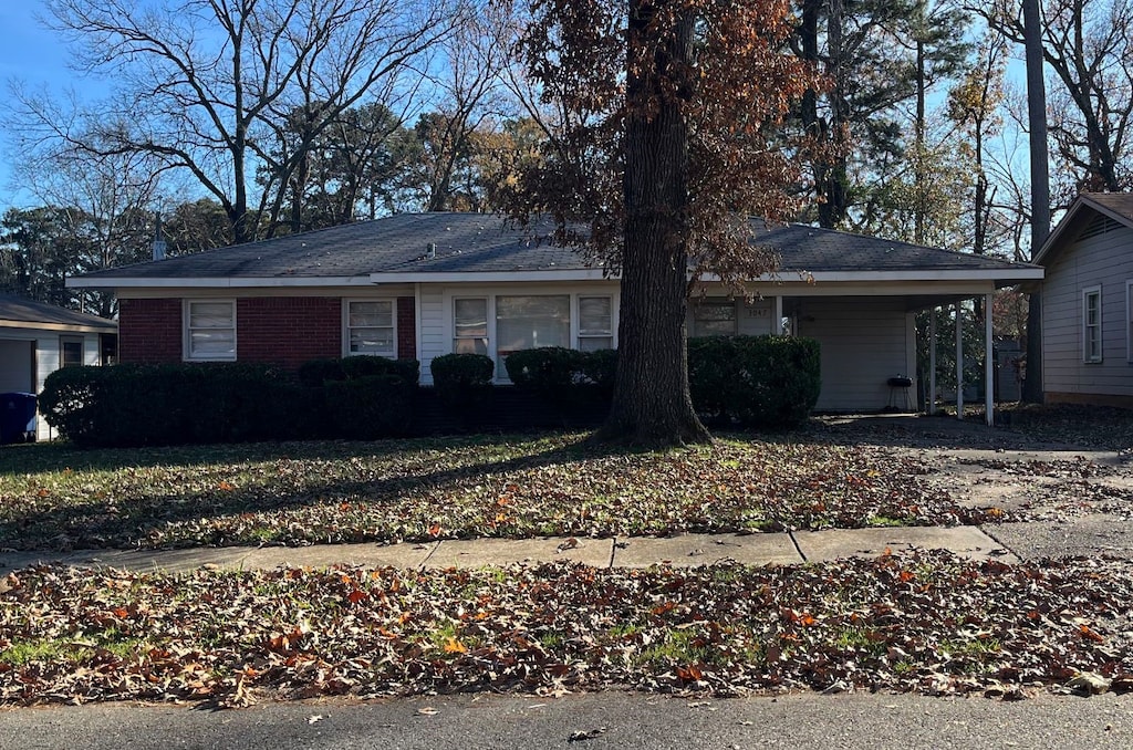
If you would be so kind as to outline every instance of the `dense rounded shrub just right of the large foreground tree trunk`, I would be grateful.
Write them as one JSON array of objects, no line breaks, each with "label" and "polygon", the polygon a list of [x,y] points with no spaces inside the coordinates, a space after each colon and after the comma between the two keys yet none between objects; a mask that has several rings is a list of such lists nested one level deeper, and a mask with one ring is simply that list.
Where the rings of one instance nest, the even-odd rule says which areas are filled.
[{"label": "dense rounded shrub just right of the large foreground tree trunk", "polygon": [[810,415],[820,389],[813,339],[689,339],[689,390],[706,416],[750,427],[790,427]]}]

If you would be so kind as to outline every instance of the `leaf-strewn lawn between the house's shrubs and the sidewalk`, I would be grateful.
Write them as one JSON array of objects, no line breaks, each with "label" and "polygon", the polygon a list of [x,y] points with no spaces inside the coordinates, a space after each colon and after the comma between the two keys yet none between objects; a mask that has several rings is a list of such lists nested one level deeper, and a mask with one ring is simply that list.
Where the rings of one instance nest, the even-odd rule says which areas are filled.
[{"label": "leaf-strewn lawn between the house's shrubs and the sidewalk", "polygon": [[[0,547],[393,543],[948,525],[981,519],[918,459],[719,440],[608,452],[585,435],[0,450]],[[1002,519],[1000,515],[995,515]]]}]

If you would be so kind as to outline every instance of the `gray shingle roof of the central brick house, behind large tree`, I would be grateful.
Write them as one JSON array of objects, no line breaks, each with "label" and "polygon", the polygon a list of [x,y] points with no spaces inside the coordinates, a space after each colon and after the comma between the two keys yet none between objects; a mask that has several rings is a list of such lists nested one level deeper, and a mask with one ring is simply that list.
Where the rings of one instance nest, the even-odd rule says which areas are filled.
[{"label": "gray shingle roof of the central brick house, behind large tree", "polygon": [[[505,228],[489,214],[397,214],[271,240],[110,269],[84,276],[104,279],[357,278],[374,273],[482,273],[582,270],[585,258],[570,248]],[[757,235],[776,248],[782,271],[1008,271],[1023,267],[997,258],[893,242],[802,224]],[[428,256],[428,246],[436,254]]]}]

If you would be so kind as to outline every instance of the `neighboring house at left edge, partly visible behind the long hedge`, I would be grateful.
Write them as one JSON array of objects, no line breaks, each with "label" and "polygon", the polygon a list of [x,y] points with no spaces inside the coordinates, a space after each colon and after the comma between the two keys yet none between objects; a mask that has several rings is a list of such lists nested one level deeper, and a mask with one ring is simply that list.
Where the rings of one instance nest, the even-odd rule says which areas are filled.
[{"label": "neighboring house at left edge, partly visible behind the long hedge", "polygon": [[[113,356],[117,333],[113,321],[0,295],[0,393],[39,393],[60,367],[104,364]],[[51,437],[42,418],[36,437]]]}]

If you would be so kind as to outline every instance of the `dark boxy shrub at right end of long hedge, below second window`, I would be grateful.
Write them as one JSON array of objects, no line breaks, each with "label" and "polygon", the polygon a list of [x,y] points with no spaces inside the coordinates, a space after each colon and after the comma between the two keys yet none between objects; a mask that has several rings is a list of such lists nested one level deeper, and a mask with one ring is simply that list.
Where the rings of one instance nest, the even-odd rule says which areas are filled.
[{"label": "dark boxy shrub at right end of long hedge, below second window", "polygon": [[327,381],[327,412],[334,434],[351,440],[408,435],[412,429],[416,383],[385,373]]}]

